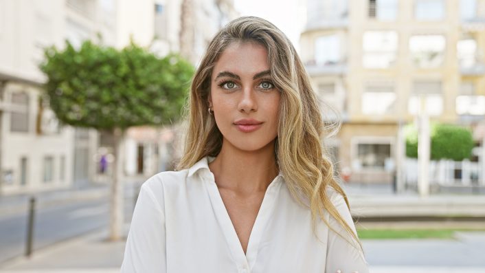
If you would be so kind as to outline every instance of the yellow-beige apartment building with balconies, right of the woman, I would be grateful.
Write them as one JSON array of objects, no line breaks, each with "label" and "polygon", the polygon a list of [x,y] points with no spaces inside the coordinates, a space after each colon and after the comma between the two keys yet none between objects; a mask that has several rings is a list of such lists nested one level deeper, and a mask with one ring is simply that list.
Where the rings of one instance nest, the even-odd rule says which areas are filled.
[{"label": "yellow-beige apartment building with balconies, right of the woman", "polygon": [[302,60],[343,120],[330,143],[350,182],[392,182],[403,158],[399,124],[414,122],[420,107],[440,122],[484,120],[484,0],[307,4]]}]

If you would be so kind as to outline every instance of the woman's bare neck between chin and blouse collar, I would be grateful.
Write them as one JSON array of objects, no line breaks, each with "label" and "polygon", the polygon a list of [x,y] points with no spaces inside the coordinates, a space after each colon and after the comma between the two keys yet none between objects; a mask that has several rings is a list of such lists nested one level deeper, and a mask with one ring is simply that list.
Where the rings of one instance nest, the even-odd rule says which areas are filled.
[{"label": "woman's bare neck between chin and blouse collar", "polygon": [[218,188],[248,194],[265,191],[279,169],[275,141],[257,151],[243,151],[223,140],[221,152],[209,164]]}]

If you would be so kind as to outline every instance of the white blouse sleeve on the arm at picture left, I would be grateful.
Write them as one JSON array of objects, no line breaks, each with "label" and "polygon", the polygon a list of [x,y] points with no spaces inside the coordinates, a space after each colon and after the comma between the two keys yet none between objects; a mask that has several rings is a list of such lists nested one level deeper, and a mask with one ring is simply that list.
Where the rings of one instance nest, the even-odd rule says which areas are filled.
[{"label": "white blouse sleeve on the arm at picture left", "polygon": [[[135,205],[126,239],[122,273],[166,272],[165,214],[149,182],[142,185]],[[159,194],[163,196],[163,192]]]}]

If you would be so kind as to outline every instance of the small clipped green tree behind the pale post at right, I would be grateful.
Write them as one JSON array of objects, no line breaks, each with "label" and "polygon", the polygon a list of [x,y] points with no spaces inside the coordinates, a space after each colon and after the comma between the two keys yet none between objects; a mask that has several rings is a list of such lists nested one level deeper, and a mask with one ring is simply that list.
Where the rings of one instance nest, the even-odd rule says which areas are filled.
[{"label": "small clipped green tree behind the pale post at right", "polygon": [[[406,156],[418,157],[418,129],[414,124],[405,127]],[[470,129],[453,124],[431,124],[431,160],[461,161],[471,156],[473,135]]]}]

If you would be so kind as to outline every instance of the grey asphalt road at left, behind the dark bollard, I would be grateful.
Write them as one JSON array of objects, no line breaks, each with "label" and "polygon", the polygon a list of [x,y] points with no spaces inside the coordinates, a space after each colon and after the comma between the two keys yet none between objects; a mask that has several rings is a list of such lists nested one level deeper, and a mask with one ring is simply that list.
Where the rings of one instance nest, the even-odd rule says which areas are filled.
[{"label": "grey asphalt road at left, behind the dark bollard", "polygon": [[[133,213],[132,190],[126,190],[125,221]],[[71,201],[36,211],[34,250],[76,237],[109,225],[109,200],[106,197]],[[27,212],[0,217],[0,263],[25,253]]]}]

